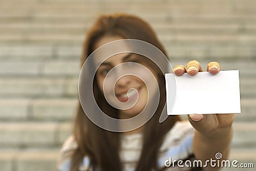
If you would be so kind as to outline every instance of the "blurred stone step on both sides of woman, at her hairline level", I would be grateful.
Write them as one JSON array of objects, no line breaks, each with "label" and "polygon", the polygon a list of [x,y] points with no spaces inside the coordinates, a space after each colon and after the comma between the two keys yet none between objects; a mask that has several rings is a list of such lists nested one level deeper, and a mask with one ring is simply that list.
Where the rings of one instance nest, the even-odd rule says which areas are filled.
[{"label": "blurred stone step on both sides of woman, at her hairline level", "polygon": [[[254,35],[254,34],[253,34]],[[161,41],[168,41],[173,43],[248,43],[255,45],[256,37],[250,34],[234,34],[234,35],[221,35],[214,34],[161,34],[159,35]],[[68,33],[68,34],[1,34],[0,43],[20,43],[20,42],[33,42],[33,43],[67,43],[80,42],[84,40],[84,34]]]}]

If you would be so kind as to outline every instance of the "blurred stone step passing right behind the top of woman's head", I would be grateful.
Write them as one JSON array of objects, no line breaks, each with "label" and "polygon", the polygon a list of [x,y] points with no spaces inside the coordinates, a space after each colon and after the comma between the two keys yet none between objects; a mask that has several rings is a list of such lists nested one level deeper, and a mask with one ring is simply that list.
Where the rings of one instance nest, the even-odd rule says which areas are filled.
[{"label": "blurred stone step passing right behind the top of woman's head", "polygon": [[[131,12],[130,12],[131,13]],[[136,14],[134,14],[136,15]],[[95,19],[99,15],[82,15],[76,17],[68,17],[68,16],[50,16],[50,17],[29,17],[26,15],[0,15],[0,21],[4,24],[26,24],[26,23],[33,23],[33,24],[69,24],[69,25],[79,25],[84,24],[87,27],[91,26]],[[195,15],[143,15],[141,13],[139,15],[142,19],[149,22],[152,26],[154,25],[163,25],[164,26],[171,26],[173,24],[195,24],[195,25],[227,25],[227,24],[252,24],[256,21],[256,16],[252,15],[228,15],[228,16],[215,16],[215,15],[202,15],[202,16],[195,16]],[[86,27],[84,26],[84,27]],[[71,27],[71,26],[70,26]]]}]

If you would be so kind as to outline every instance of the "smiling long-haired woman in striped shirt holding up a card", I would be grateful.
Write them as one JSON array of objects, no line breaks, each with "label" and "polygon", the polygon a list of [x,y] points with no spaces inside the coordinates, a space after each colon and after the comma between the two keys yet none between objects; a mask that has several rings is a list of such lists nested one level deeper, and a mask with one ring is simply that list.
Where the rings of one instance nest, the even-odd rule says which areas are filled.
[{"label": "smiling long-haired woman in striped shirt holding up a card", "polygon": [[[81,66],[97,48],[122,39],[146,41],[159,48],[167,56],[156,34],[145,21],[125,14],[103,15],[90,29],[84,41]],[[141,80],[132,75],[118,78],[112,89],[114,89],[116,99],[121,102],[127,101],[129,97],[138,96],[138,101],[133,107],[120,110],[108,103],[112,102],[111,97],[109,101],[106,100],[106,97],[111,96],[104,92],[104,80],[108,72],[111,68],[127,62],[145,66],[156,77],[160,87],[159,105],[154,115],[143,126],[136,130],[118,133],[104,130],[92,123],[79,103],[73,135],[66,140],[60,152],[59,170],[218,170],[218,167],[209,165],[207,168],[180,168],[177,165],[166,167],[166,164],[174,160],[202,160],[204,163],[210,158],[216,160],[217,152],[222,154],[221,160],[226,159],[232,138],[234,114],[193,114],[189,115],[189,122],[182,121],[179,115],[169,115],[163,123],[159,123],[162,111],[166,110],[164,107],[166,89],[164,75],[153,61],[147,57],[129,53],[117,54],[105,61],[100,61],[101,59],[96,56],[93,60],[90,65],[92,68],[97,66],[97,63],[103,62],[97,68],[93,80],[93,93],[104,113],[116,119],[129,119],[140,114],[147,103],[152,101],[152,96],[151,98],[148,96],[148,87],[145,85],[148,80]],[[165,67],[164,64],[163,67]],[[88,68],[89,71],[90,68]],[[119,71],[122,72],[122,70]],[[194,60],[189,61],[186,67],[175,66],[173,71],[175,75],[182,77],[185,72],[189,75],[196,75],[198,71],[202,71],[202,67],[198,61]],[[217,74],[220,71],[220,64],[209,63],[207,71]],[[115,72],[118,71],[113,71]],[[145,75],[147,78],[147,73]],[[129,94],[130,89],[135,89],[136,92]],[[152,89],[154,90],[154,87]],[[211,96],[214,94],[209,94],[209,98]],[[188,97],[186,100],[193,100],[193,97]],[[166,160],[170,158],[172,161],[166,163]]]}]

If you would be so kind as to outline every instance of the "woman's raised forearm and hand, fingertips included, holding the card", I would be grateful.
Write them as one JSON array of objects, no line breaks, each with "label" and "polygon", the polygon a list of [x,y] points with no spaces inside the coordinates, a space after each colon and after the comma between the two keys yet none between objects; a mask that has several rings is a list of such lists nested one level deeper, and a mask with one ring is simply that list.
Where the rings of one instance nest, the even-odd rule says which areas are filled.
[{"label": "woman's raised forearm and hand, fingertips included, holding the card", "polygon": [[[203,71],[198,61],[189,61],[186,68],[182,65],[173,69],[175,75],[196,75],[198,71]],[[207,71],[217,74],[220,71],[220,64],[211,62],[207,65]],[[209,98],[214,94],[209,94]],[[188,97],[189,99],[189,97]],[[193,99],[193,97],[191,97]],[[204,165],[207,160],[217,160],[216,153],[220,152],[221,160],[227,160],[232,140],[232,123],[234,114],[193,114],[189,115],[189,122],[196,129],[193,139],[193,151],[197,160],[202,160]],[[216,162],[215,162],[216,163]],[[220,162],[221,163],[221,162]],[[212,163],[214,164],[214,163]],[[208,161],[205,170],[218,170],[218,167],[211,167]]]}]

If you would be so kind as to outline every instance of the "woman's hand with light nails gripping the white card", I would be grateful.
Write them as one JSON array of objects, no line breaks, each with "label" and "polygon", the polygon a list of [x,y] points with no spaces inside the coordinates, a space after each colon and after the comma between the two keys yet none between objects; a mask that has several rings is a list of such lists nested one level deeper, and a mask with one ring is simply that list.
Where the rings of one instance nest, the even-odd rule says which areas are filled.
[{"label": "woman's hand with light nails gripping the white card", "polygon": [[[186,68],[182,65],[178,65],[173,68],[173,71],[175,75],[178,76],[184,73],[194,76],[198,72],[203,71],[203,69],[198,61],[193,60],[189,61]],[[220,64],[217,62],[207,64],[207,71],[216,75],[220,71]],[[214,96],[214,94],[209,94],[209,98],[211,98],[211,96]],[[191,99],[193,99],[193,97],[191,97]],[[234,114],[191,114],[188,118],[193,127],[200,133],[211,135],[211,133],[217,133],[218,128],[230,127],[234,121]]]}]

